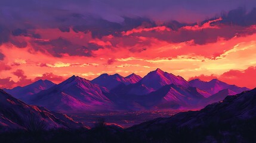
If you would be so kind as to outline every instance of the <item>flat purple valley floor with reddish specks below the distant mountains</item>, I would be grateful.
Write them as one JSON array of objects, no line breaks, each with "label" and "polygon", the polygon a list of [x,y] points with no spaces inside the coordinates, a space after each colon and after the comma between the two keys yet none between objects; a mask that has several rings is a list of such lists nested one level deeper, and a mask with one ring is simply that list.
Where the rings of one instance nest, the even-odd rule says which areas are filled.
[{"label": "flat purple valley floor with reddish specks below the distant mountains", "polygon": [[84,123],[90,128],[94,127],[98,119],[103,118],[107,125],[117,125],[121,128],[129,128],[133,125],[153,120],[159,117],[170,117],[174,114],[188,110],[144,110],[144,111],[116,111],[116,112],[91,112],[68,114],[77,122]]}]

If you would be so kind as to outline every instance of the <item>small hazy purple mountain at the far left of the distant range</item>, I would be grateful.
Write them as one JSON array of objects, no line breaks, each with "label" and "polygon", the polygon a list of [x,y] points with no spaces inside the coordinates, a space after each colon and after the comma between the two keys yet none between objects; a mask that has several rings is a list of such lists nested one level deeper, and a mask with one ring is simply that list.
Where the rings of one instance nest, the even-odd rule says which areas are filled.
[{"label": "small hazy purple mountain at the far left of the distant range", "polygon": [[30,98],[30,95],[37,94],[40,91],[49,89],[53,87],[55,83],[49,81],[49,80],[38,80],[30,85],[27,86],[17,86],[13,89],[4,89],[5,92],[8,94],[13,95],[13,97],[22,100],[27,101],[28,98]]}]

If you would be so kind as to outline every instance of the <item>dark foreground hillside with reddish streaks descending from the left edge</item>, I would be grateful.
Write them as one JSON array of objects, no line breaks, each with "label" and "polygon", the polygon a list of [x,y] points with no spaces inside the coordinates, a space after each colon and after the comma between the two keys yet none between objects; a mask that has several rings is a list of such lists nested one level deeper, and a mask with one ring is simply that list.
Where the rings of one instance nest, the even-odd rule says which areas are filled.
[{"label": "dark foreground hillside with reddish streaks descending from the left edge", "polygon": [[27,105],[0,89],[0,132],[26,129],[31,119],[42,121],[45,129],[83,127],[66,115],[54,113],[43,107]]}]

